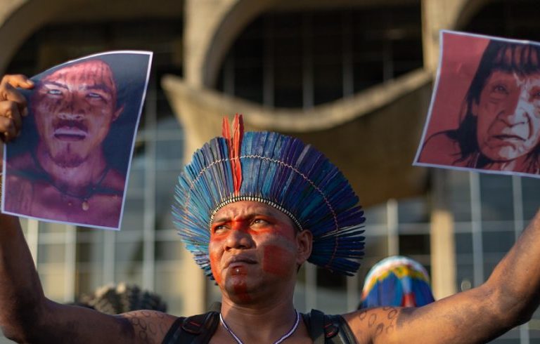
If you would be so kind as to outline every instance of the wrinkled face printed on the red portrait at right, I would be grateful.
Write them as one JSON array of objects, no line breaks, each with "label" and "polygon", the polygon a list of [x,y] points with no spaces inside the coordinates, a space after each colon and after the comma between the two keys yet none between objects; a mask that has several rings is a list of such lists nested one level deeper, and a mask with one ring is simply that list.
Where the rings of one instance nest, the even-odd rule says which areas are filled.
[{"label": "wrinkled face printed on the red portrait at right", "polygon": [[478,146],[489,159],[510,161],[531,152],[540,141],[540,73],[492,72],[473,114]]}]

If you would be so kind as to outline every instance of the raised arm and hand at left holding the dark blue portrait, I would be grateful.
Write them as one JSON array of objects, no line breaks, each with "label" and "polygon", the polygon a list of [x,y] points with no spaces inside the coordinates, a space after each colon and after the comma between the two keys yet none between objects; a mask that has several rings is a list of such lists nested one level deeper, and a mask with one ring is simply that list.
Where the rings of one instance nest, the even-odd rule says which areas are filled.
[{"label": "raised arm and hand at left holding the dark blue portrait", "polygon": [[[18,135],[26,102],[15,87],[32,88],[22,75],[0,82],[0,137]],[[18,343],[160,342],[174,317],[153,311],[105,315],[61,305],[44,296],[19,220],[0,214],[0,326]]]}]

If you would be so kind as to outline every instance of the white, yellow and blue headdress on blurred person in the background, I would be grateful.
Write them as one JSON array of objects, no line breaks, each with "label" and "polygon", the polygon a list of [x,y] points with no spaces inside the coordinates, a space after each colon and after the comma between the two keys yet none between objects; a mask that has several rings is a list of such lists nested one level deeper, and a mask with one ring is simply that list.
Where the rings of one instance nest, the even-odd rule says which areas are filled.
[{"label": "white, yellow and blue headdress on blurred person in the background", "polygon": [[369,270],[360,307],[420,307],[434,300],[425,268],[411,258],[392,256]]}]

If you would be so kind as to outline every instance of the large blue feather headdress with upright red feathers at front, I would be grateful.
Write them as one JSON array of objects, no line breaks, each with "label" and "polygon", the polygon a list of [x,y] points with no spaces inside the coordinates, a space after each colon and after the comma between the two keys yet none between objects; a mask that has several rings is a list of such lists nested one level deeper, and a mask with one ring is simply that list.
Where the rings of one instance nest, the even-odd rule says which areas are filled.
[{"label": "large blue feather headdress with upright red feathers at front", "polygon": [[342,173],[311,145],[273,132],[244,133],[236,115],[223,137],[193,154],[175,188],[172,209],[181,240],[212,277],[208,243],[214,213],[234,201],[260,201],[313,234],[308,261],[352,275],[364,255],[364,211]]}]

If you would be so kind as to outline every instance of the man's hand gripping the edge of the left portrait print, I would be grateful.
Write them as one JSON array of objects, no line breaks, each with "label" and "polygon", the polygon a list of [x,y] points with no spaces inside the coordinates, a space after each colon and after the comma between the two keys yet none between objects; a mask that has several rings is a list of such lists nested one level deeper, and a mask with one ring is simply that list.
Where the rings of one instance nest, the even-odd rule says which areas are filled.
[{"label": "man's hand gripping the edge of the left portrait print", "polygon": [[0,139],[4,142],[19,135],[22,117],[28,114],[26,99],[17,87],[30,89],[34,82],[22,74],[5,75],[0,81]]}]

